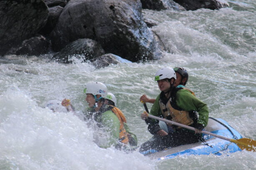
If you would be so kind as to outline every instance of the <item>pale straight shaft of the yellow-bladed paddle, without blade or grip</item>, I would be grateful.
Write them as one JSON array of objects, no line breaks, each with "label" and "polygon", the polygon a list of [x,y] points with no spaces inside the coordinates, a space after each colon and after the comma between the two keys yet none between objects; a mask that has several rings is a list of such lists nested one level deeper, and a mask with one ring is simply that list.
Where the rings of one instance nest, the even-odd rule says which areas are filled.
[{"label": "pale straight shaft of the yellow-bladed paddle, without blade or grip", "polygon": [[[165,119],[165,118],[159,118],[159,117],[157,117],[157,116],[153,116],[153,115],[150,115],[150,114],[148,114],[148,117],[149,117],[149,118],[156,119],[156,120],[159,120],[159,121],[164,121],[164,122],[166,122],[166,123],[171,123],[171,124],[173,124],[173,125],[180,126],[180,127],[182,127],[182,128],[190,129],[190,130],[192,130],[192,131],[195,131],[195,128],[193,128],[193,127],[191,127],[191,126],[186,126],[186,125],[183,125],[183,124],[181,124],[181,123],[169,121],[169,120],[167,120],[167,119]],[[211,136],[215,136],[216,138],[221,138],[221,139],[228,140],[228,141],[232,142],[232,141],[231,141],[232,139],[230,139],[230,138],[226,138],[226,137],[224,137],[224,136],[219,136],[219,135],[216,135],[216,134],[211,133],[211,132],[201,131],[201,133],[208,134],[208,135],[211,135]]]}]

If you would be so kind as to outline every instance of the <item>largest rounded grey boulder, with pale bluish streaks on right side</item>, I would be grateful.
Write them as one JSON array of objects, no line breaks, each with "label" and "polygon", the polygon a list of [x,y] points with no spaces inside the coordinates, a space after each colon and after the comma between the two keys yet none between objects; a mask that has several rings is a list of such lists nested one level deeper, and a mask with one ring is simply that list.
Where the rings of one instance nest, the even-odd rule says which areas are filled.
[{"label": "largest rounded grey boulder, with pale bluish streaks on right side", "polygon": [[143,21],[140,0],[70,0],[50,35],[55,51],[89,38],[105,52],[133,62],[159,57],[154,34]]}]

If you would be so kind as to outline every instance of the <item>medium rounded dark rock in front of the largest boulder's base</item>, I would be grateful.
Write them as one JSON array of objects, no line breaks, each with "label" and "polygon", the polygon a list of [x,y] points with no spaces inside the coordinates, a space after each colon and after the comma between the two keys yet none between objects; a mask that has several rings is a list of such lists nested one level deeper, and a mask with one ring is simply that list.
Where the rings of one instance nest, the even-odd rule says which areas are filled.
[{"label": "medium rounded dark rock in front of the largest boulder's base", "polygon": [[78,39],[68,44],[60,52],[56,53],[53,58],[63,63],[70,63],[70,57],[82,55],[85,60],[92,60],[105,54],[100,44],[92,39]]}]

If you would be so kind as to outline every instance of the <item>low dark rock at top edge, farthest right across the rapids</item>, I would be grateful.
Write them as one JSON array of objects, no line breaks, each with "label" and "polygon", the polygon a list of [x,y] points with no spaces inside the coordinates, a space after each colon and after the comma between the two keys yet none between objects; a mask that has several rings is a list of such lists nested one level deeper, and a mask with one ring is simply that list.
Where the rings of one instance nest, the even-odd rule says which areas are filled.
[{"label": "low dark rock at top edge, farthest right across the rapids", "polygon": [[210,10],[218,10],[222,7],[228,7],[227,3],[218,0],[173,0],[185,7],[186,10],[198,10],[200,8],[207,8]]}]

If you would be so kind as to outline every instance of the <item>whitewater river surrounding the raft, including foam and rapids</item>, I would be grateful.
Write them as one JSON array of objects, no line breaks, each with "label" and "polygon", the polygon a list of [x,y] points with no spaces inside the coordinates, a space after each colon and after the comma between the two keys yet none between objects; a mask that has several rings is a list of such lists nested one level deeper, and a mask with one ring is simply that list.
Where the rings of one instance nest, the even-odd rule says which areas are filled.
[{"label": "whitewater river surrounding the raft, including foam and rapids", "polygon": [[[192,155],[151,160],[138,152],[101,149],[92,129],[72,113],[52,113],[48,100],[68,98],[77,111],[87,106],[83,89],[101,81],[117,97],[138,143],[151,138],[139,97],[155,98],[153,81],[162,67],[185,67],[187,87],[243,137],[256,140],[256,1],[229,1],[221,10],[143,10],[158,22],[165,57],[95,69],[90,63],[59,64],[46,56],[0,59],[0,170],[256,170],[256,153]],[[150,108],[152,105],[148,104]]]}]

